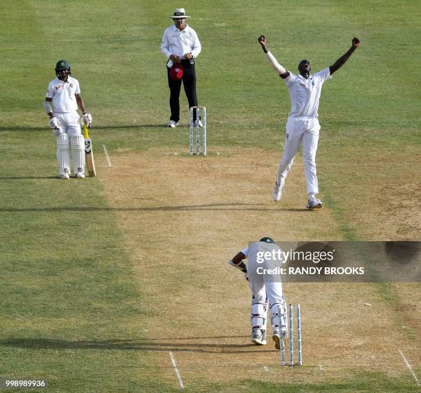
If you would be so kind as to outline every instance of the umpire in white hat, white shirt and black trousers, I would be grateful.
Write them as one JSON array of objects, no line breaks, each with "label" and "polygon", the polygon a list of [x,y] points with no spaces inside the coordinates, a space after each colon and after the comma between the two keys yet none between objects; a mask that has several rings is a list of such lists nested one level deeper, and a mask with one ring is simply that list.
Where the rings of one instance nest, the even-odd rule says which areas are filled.
[{"label": "umpire in white hat, white shirt and black trousers", "polygon": [[[180,89],[183,82],[188,106],[197,106],[195,58],[202,50],[195,30],[186,23],[184,8],[177,8],[170,16],[174,24],[167,27],[162,36],[161,52],[168,58],[166,63],[168,85],[171,91],[171,117],[166,124],[175,128],[180,120]],[[193,111],[193,121],[196,113]],[[200,120],[199,120],[200,124]],[[202,126],[202,124],[200,124]]]}]

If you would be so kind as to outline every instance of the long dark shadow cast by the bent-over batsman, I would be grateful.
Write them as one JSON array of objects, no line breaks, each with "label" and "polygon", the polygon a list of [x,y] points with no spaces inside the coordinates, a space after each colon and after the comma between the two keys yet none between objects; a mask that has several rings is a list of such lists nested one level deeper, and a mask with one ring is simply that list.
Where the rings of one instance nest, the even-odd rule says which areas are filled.
[{"label": "long dark shadow cast by the bent-over batsman", "polygon": [[[225,339],[239,339],[241,336],[222,337]],[[245,353],[245,352],[261,352],[261,349],[248,341],[249,336],[244,337],[244,344],[230,344],[216,342],[220,340],[220,336],[206,337],[206,342],[198,341],[203,338],[189,337],[187,339],[133,339],[133,340],[63,340],[49,338],[15,338],[1,340],[0,346],[24,349],[52,349],[52,350],[78,350],[78,349],[94,349],[94,350],[138,350],[153,352],[203,352],[203,353]],[[186,342],[189,341],[189,342]]]}]

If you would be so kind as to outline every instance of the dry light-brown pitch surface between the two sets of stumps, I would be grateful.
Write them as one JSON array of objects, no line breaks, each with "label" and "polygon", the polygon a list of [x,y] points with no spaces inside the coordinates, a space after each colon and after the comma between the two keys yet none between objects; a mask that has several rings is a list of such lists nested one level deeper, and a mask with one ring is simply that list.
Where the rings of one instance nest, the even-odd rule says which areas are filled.
[{"label": "dry light-brown pitch surface between the two sets of stumps", "polygon": [[[287,301],[302,307],[304,366],[281,368],[272,341],[264,347],[250,343],[250,293],[226,260],[262,236],[343,240],[328,206],[305,210],[299,157],[283,199],[272,202],[279,157],[250,149],[208,157],[173,150],[112,157],[102,181],[153,315],[135,322],[147,339],[127,344],[153,351],[151,366],[161,368],[174,388],[179,382],[170,351],[184,385],[196,389],[202,382],[245,378],[344,381],[371,370],[413,379],[399,349],[420,368],[418,284],[395,285],[393,303],[374,284],[285,284]],[[370,205],[361,208],[376,214]]]}]

